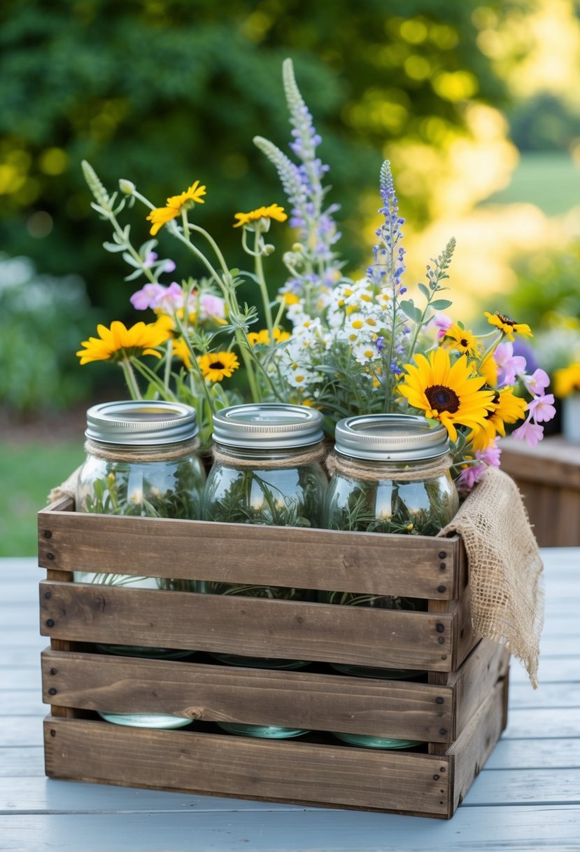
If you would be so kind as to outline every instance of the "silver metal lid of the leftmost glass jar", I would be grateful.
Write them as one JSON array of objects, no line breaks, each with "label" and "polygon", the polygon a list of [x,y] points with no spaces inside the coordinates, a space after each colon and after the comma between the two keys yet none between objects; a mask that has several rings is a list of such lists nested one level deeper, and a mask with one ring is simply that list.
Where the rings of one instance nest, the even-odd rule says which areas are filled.
[{"label": "silver metal lid of the leftmost glass jar", "polygon": [[158,446],[195,438],[196,410],[181,402],[125,400],[102,402],[87,412],[91,440],[123,446]]}]

